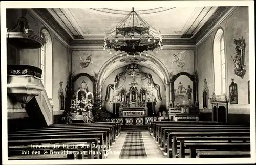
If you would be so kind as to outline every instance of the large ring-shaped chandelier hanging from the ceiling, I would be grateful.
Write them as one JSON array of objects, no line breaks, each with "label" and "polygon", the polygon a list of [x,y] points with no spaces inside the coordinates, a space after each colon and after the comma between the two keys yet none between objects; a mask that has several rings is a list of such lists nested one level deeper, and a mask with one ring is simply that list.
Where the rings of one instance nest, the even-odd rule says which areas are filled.
[{"label": "large ring-shaped chandelier hanging from the ceiling", "polygon": [[[127,37],[127,38],[126,38]],[[112,54],[112,51],[126,52],[128,55],[136,55],[147,51],[163,49],[162,35],[155,30],[136,11],[133,10],[121,20],[116,27],[105,32],[103,49]]]}]

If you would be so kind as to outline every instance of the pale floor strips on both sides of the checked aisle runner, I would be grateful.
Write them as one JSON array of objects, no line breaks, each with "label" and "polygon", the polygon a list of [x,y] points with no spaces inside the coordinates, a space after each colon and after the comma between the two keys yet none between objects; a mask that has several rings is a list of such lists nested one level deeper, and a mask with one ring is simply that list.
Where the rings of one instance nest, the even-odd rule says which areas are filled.
[{"label": "pale floor strips on both sides of the checked aisle runner", "polygon": [[[144,148],[146,151],[147,158],[165,158],[162,153],[159,151],[159,147],[155,143],[154,139],[150,135],[148,131],[142,131],[142,139],[144,143]],[[116,143],[113,145],[111,152],[109,152],[109,156],[106,159],[119,159],[119,155],[121,153],[125,138],[127,135],[127,131],[122,131]],[[136,140],[136,139],[134,139]]]}]

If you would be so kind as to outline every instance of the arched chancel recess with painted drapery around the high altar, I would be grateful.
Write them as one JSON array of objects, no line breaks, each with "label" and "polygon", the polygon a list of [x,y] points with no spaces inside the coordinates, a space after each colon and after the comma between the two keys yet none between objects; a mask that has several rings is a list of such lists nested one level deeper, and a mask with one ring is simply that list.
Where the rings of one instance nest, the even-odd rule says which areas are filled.
[{"label": "arched chancel recess with painted drapery around the high altar", "polygon": [[[115,88],[114,82],[116,82]],[[145,104],[142,107],[147,109],[147,104],[152,105],[153,97],[154,110],[152,111],[150,107],[148,108],[150,110],[146,111],[151,115],[157,114],[159,107],[166,104],[163,99],[166,97],[164,82],[152,69],[137,63],[126,64],[110,73],[102,84],[101,91],[105,108],[112,113],[115,113],[113,103],[117,103],[120,107],[126,106],[125,108],[132,108],[133,103],[134,108]]]}]

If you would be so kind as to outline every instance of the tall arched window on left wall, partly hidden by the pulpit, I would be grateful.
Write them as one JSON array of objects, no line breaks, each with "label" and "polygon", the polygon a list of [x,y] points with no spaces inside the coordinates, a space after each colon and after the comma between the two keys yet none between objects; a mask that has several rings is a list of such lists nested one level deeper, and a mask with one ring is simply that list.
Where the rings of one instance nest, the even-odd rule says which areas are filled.
[{"label": "tall arched window on left wall, partly hidden by the pulpit", "polygon": [[41,47],[41,80],[45,86],[48,98],[52,99],[52,39],[46,29],[41,31],[41,37],[46,41],[45,45]]}]

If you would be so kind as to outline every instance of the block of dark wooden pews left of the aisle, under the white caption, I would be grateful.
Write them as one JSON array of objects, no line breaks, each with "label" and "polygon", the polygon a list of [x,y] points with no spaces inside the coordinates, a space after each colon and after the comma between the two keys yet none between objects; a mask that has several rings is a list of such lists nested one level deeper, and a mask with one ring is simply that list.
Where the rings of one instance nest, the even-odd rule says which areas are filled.
[{"label": "block of dark wooden pews left of the aisle, under the white caption", "polygon": [[97,122],[8,132],[8,159],[104,159],[120,131],[118,122]]}]

